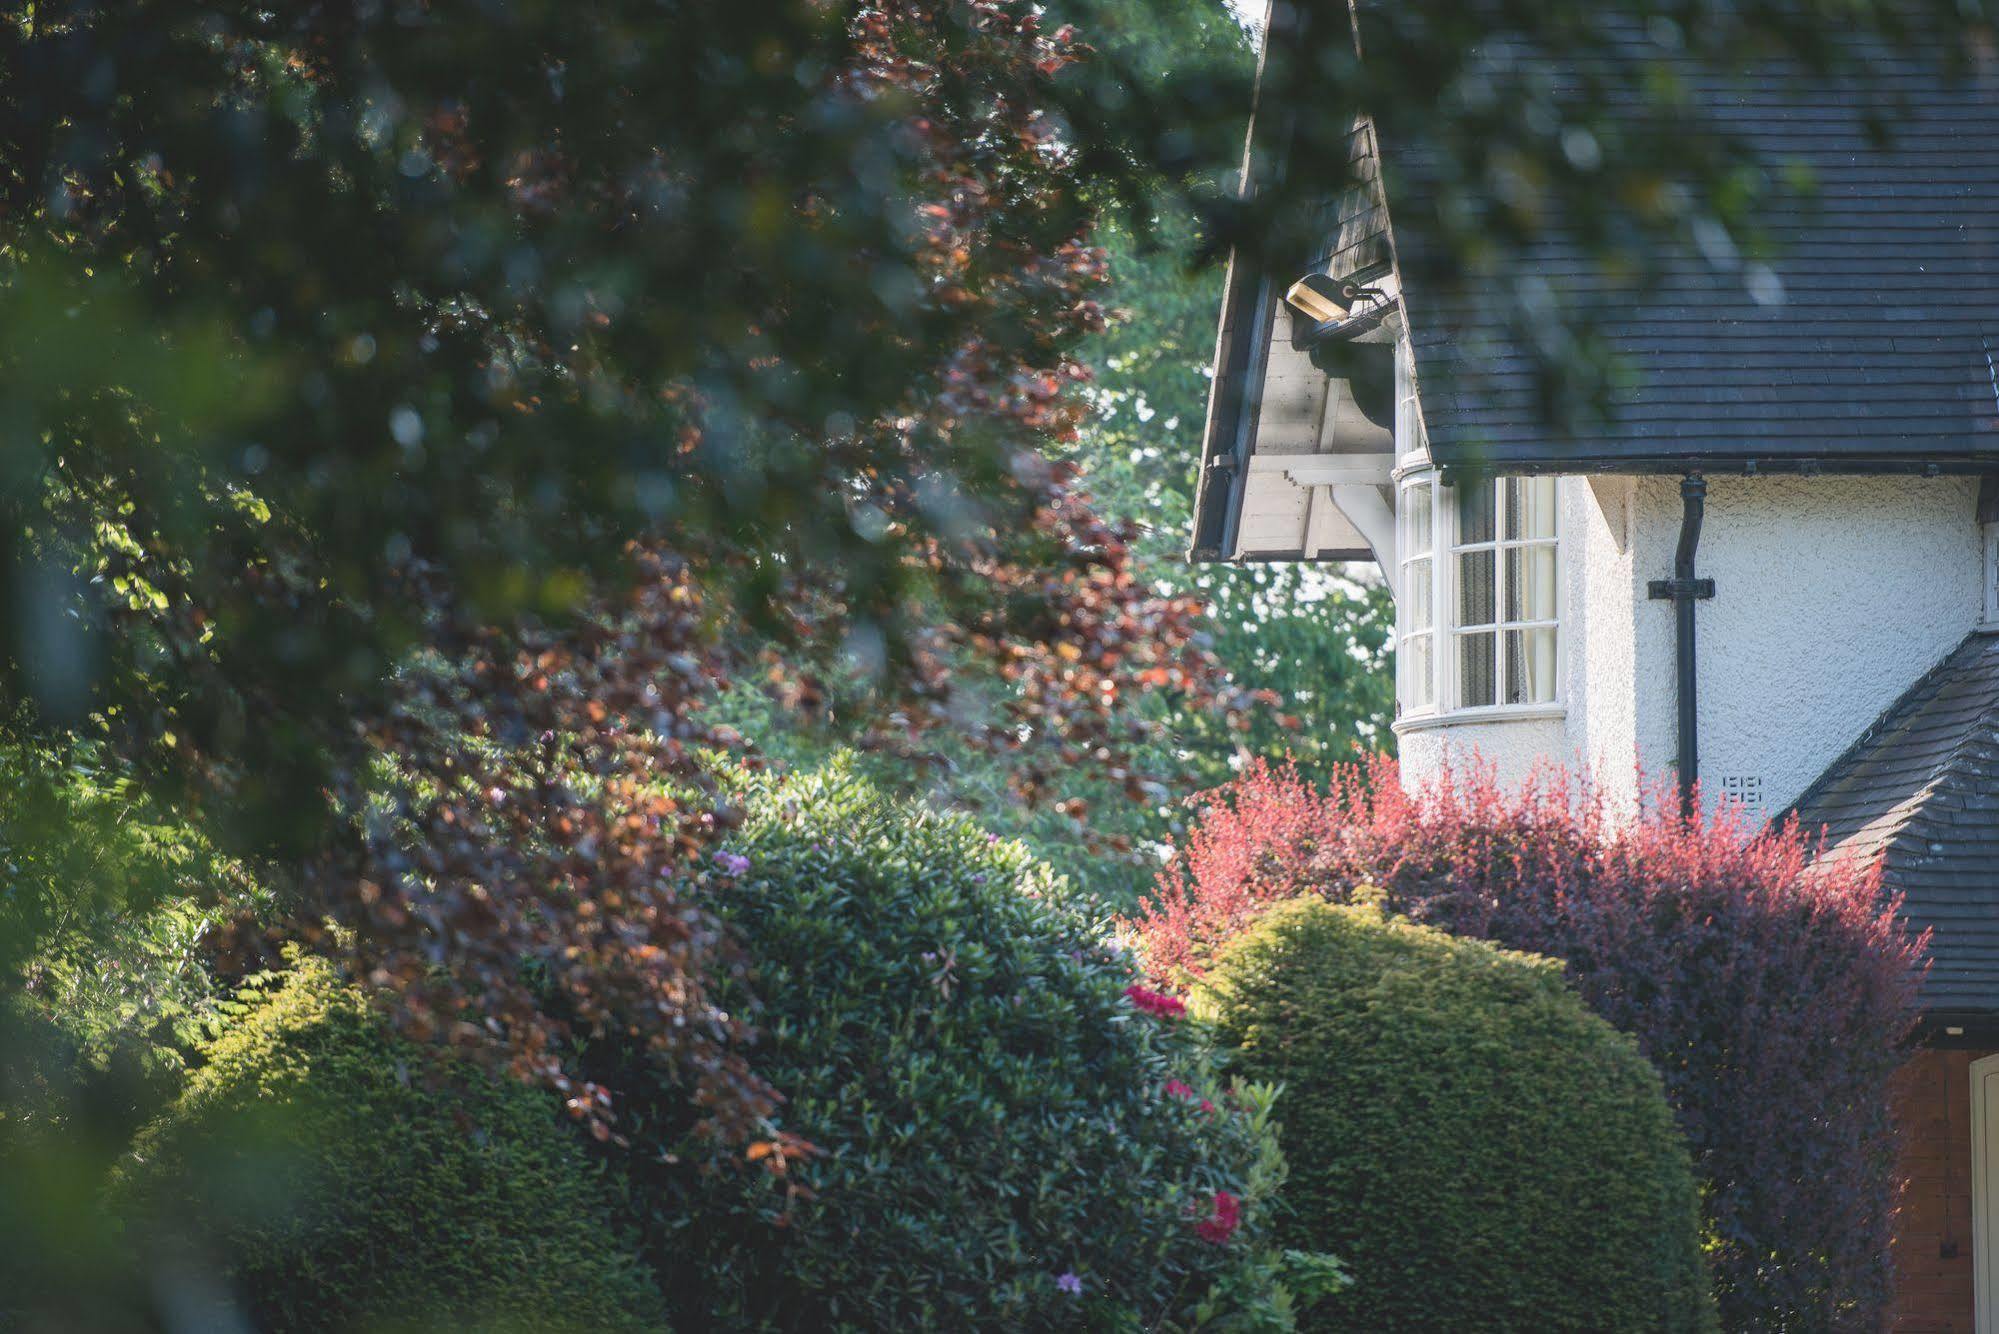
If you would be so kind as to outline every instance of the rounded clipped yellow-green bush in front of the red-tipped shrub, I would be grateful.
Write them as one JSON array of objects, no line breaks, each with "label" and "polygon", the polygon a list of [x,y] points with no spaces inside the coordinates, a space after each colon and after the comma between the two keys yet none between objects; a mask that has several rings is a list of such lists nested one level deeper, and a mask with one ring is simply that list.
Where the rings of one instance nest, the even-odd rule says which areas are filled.
[{"label": "rounded clipped yellow-green bush in front of the red-tipped shrub", "polygon": [[1283,1084],[1285,1240],[1353,1270],[1303,1326],[1713,1328],[1659,1076],[1557,962],[1297,900],[1195,1002]]}]

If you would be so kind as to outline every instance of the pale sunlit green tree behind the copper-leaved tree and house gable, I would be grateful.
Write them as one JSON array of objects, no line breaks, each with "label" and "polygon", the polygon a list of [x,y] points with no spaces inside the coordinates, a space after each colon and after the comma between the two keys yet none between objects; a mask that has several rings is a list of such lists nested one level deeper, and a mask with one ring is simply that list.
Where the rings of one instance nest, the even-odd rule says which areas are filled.
[{"label": "pale sunlit green tree behind the copper-leaved tree and house gable", "polygon": [[[1089,6],[1051,6],[1083,20]],[[1099,54],[1131,70],[1139,90],[1229,88],[1249,78],[1249,36],[1221,0],[1133,4],[1097,12]],[[1235,140],[1241,104],[1213,108]],[[1081,470],[1099,514],[1133,530],[1129,572],[1167,598],[1193,598],[1217,672],[1247,706],[1149,692],[1133,702],[1153,724],[1117,774],[1049,772],[1045,756],[1003,750],[966,756],[942,746],[888,746],[866,760],[894,790],[972,810],[1025,838],[1085,888],[1131,906],[1151,882],[1159,846],[1183,832],[1179,796],[1225,782],[1243,758],[1293,756],[1311,772],[1391,746],[1393,708],[1387,590],[1367,568],[1189,566],[1181,552],[1193,508],[1193,472],[1207,412],[1221,272],[1203,266],[1203,228],[1187,206],[1193,178],[1155,180],[1145,212],[1105,208],[1093,232],[1107,268],[1109,318],[1081,348],[1085,414],[1057,456]],[[1261,696],[1249,700],[1249,696]],[[814,766],[852,736],[852,710],[820,728],[762,702],[732,718],[774,756]]]}]

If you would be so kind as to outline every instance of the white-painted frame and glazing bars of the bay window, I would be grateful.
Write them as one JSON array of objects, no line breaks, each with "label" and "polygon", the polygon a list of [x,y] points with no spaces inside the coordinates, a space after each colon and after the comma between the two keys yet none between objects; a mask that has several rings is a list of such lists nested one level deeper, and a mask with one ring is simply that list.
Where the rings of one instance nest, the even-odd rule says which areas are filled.
[{"label": "white-painted frame and glazing bars of the bay window", "polygon": [[[1497,488],[1505,478],[1479,478],[1479,486]],[[1417,628],[1409,622],[1409,606],[1413,602],[1409,584],[1409,542],[1407,534],[1411,528],[1409,496],[1417,486],[1429,486],[1429,612],[1431,624]],[[1477,720],[1523,720],[1523,718],[1561,718],[1567,700],[1567,588],[1563,578],[1563,564],[1567,560],[1567,534],[1563,528],[1561,496],[1557,480],[1555,498],[1555,614],[1551,620],[1505,620],[1505,552],[1509,548],[1523,546],[1547,546],[1547,540],[1509,540],[1505,538],[1505,514],[1503,502],[1495,496],[1493,500],[1493,538],[1489,542],[1473,542],[1469,546],[1457,540],[1457,488],[1443,486],[1437,468],[1419,464],[1399,470],[1395,478],[1397,496],[1397,528],[1399,528],[1399,556],[1405,592],[1395,604],[1395,700],[1399,706],[1399,718],[1395,722],[1397,730],[1415,730],[1423,726],[1437,726],[1447,722],[1477,722]],[[1457,560],[1465,552],[1493,552],[1493,622],[1463,628],[1457,624]],[[1551,628],[1555,632],[1555,690],[1551,700],[1539,700],[1531,704],[1461,704],[1459,690],[1459,650],[1457,642],[1463,634],[1491,634],[1493,636],[1493,694],[1505,690],[1505,632],[1507,630],[1531,630],[1531,628]],[[1429,634],[1431,636],[1431,692],[1427,704],[1415,704],[1415,690],[1409,680],[1407,654],[1401,646],[1409,642],[1411,636]]]}]

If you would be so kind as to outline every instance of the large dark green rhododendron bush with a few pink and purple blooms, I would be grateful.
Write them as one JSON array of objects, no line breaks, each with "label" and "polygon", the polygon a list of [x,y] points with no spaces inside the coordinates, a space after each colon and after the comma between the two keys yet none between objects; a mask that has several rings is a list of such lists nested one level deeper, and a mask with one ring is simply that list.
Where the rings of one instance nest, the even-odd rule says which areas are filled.
[{"label": "large dark green rhododendron bush with a few pink and purple blooms", "polygon": [[[746,808],[718,858],[722,914],[754,960],[758,1070],[820,1154],[780,1180],[638,1154],[656,1160],[638,1198],[676,1316],[1289,1328],[1271,1282],[1309,1264],[1255,1240],[1281,1172],[1267,1090],[1231,1102],[1207,1080],[1201,1036],[1127,996],[1129,960],[1059,880],[846,764]],[[680,1102],[662,1088],[654,1106]],[[624,1124],[648,1146],[668,1134],[642,1106]]]}]

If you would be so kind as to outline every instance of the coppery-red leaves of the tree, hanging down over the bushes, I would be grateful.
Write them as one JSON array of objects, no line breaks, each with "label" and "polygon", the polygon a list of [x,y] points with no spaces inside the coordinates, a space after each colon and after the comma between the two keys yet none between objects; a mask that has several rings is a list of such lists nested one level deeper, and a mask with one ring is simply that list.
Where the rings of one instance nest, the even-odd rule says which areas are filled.
[{"label": "coppery-red leaves of the tree, hanging down over the bushes", "polygon": [[[1081,764],[1137,784],[1119,756],[1141,726],[1123,700],[1141,688],[1217,686],[1197,642],[1199,606],[1133,578],[1131,534],[1103,522],[1073,490],[1073,470],[1047,458],[1049,446],[1069,442],[1079,414],[1075,344],[1103,328],[1103,256],[1075,204],[1073,148],[1043,106],[1053,76],[1083,52],[1041,32],[1027,6],[998,0],[888,0],[844,14],[826,8],[812,20],[814,40],[838,56],[818,92],[844,116],[896,116],[910,194],[890,200],[894,220],[882,228],[920,280],[908,310],[832,300],[860,312],[832,338],[812,324],[830,302],[812,282],[826,278],[832,296],[852,296],[838,272],[812,268],[784,286],[742,260],[758,300],[698,370],[644,344],[652,300],[598,310],[590,332],[560,338],[536,312],[522,312],[522,328],[506,336],[442,320],[424,330],[470,338],[464,352],[480,374],[508,368],[486,386],[506,408],[494,448],[512,432],[584,430],[558,420],[574,408],[572,382],[594,384],[588,398],[600,408],[648,404],[634,408],[646,422],[638,434],[658,442],[648,466],[672,476],[684,504],[638,530],[620,530],[602,510],[578,518],[626,562],[558,570],[562,596],[546,614],[494,618],[492,600],[478,596],[482,572],[468,576],[428,544],[406,544],[382,568],[374,534],[368,558],[350,562],[368,572],[366,598],[346,588],[340,600],[326,592],[334,584],[322,574],[320,534],[302,522],[286,560],[270,562],[298,578],[252,584],[238,578],[236,560],[218,586],[180,580],[166,610],[130,612],[148,620],[150,638],[184,650],[176,682],[286,722],[296,700],[318,696],[290,674],[232,670],[206,648],[208,606],[282,598],[296,620],[296,604],[326,602],[348,612],[356,644],[368,630],[360,612],[408,626],[384,684],[336,700],[312,734],[340,820],[302,858],[304,910],[286,928],[342,952],[404,1030],[562,1090],[600,1136],[616,1134],[616,1090],[574,1078],[572,1040],[636,1036],[692,1090],[706,1130],[772,1170],[808,1146],[772,1128],[780,1092],[754,1070],[754,1034],[742,1014],[710,1000],[710,980],[746,960],[706,906],[732,874],[730,858],[714,856],[732,812],[704,764],[740,746],[704,722],[706,698],[776,660],[772,686],[806,708],[824,694],[816,674],[854,644],[872,644],[876,730],[952,728],[954,744],[1015,752],[1025,796],[1045,798]],[[308,82],[324,92],[346,78],[338,50],[308,62]],[[368,42],[354,52],[374,58]],[[546,78],[532,48],[524,60],[534,74],[516,82]],[[450,188],[440,182],[436,196],[444,216],[476,198],[534,234],[596,214],[666,226],[646,204],[660,182],[616,154],[514,154],[506,178],[490,180],[482,164],[508,154],[488,136],[504,122],[438,98],[412,104],[412,114],[446,164]],[[558,102],[548,114],[568,124],[578,112]],[[768,158],[770,172],[804,170],[778,140],[750,152]],[[498,194],[480,194],[486,186]],[[770,198],[784,204],[770,226],[796,246],[834,244],[838,228],[864,214],[818,178],[772,188]],[[620,248],[678,250],[658,238]],[[730,274],[732,264],[714,268]],[[660,290],[676,288],[662,284],[654,296]],[[830,376],[838,392],[810,412],[738,420],[746,404],[802,396],[800,376],[824,374],[820,362],[862,344],[896,374],[854,394]],[[534,346],[536,358],[520,362],[520,346]],[[560,372],[540,392],[528,374],[536,366]],[[734,388],[718,394],[724,382]],[[436,430],[442,456],[442,418]],[[564,456],[588,452],[568,444]],[[730,470],[746,456],[810,460],[812,470],[778,468],[772,488],[788,486],[786,502],[774,516],[744,516],[732,494],[756,488]],[[274,484],[270,474],[262,482]],[[276,546],[290,532],[266,524],[256,540]],[[622,544],[618,532],[628,534]],[[132,550],[132,574],[150,576],[154,554],[140,542]],[[260,568],[250,566],[252,578]],[[768,634],[744,636],[744,624]],[[964,726],[960,676],[1001,686],[990,722]],[[256,790],[254,766],[230,762],[210,736],[182,728],[180,746],[196,800],[232,806]],[[346,930],[326,934],[322,922]],[[224,944],[254,936],[244,930]]]}]

